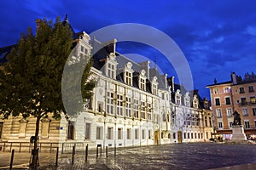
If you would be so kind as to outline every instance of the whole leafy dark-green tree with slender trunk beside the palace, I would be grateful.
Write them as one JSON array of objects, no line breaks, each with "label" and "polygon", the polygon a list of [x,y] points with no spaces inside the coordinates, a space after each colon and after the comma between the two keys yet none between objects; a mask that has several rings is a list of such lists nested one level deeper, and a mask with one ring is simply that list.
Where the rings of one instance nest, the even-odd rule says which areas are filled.
[{"label": "whole leafy dark-green tree with slender trunk beside the palace", "polygon": [[[40,20],[36,35],[28,28],[0,70],[0,114],[4,118],[20,114],[24,118],[36,117],[33,147],[36,154],[32,156],[32,166],[37,166],[40,120],[49,113],[56,119],[61,118],[63,112],[66,114],[61,97],[61,77],[75,45],[72,33],[70,26],[63,24],[60,18],[55,23]],[[93,81],[86,83],[90,77],[91,59],[89,63],[82,81],[82,93],[87,98],[94,88],[91,86]]]}]

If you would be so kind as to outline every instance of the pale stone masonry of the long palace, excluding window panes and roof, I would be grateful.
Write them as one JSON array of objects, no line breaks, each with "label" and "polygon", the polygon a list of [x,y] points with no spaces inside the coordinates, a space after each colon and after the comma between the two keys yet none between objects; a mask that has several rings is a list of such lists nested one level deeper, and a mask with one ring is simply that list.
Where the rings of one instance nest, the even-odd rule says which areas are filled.
[{"label": "pale stone masonry of the long palace, excluding window panes and roof", "polygon": [[[90,55],[90,37],[83,33],[84,39],[80,39],[76,47],[76,53],[79,55],[82,46],[88,49],[88,55]],[[109,57],[107,60],[115,59],[114,56]],[[118,63],[115,63],[118,65]],[[106,69],[106,68],[105,68]],[[132,67],[131,67],[132,69]],[[44,142],[56,142],[60,143],[83,143],[90,144],[95,147],[96,144],[102,144],[103,146],[117,147],[122,146],[133,146],[133,145],[147,145],[147,144],[169,144],[178,142],[178,133],[181,134],[182,142],[201,142],[204,141],[205,131],[203,127],[203,122],[200,122],[197,126],[183,126],[184,117],[187,116],[187,109],[189,112],[194,111],[198,114],[200,120],[202,121],[202,111],[199,109],[193,109],[185,107],[183,105],[172,104],[172,97],[170,88],[158,89],[157,95],[150,94],[139,88],[132,87],[123,82],[114,80],[114,78],[109,78],[104,76],[102,71],[97,71],[92,68],[94,77],[97,79],[96,88],[93,90],[92,108],[86,109],[81,112],[76,117],[69,117],[68,120],[66,116],[61,115],[61,120],[54,120],[49,116],[49,120],[44,120],[40,122],[40,131],[44,133],[41,141]],[[164,76],[166,78],[166,76]],[[162,77],[163,78],[163,77]],[[166,80],[164,81],[166,82]],[[113,93],[113,114],[107,112],[107,94],[108,92]],[[117,94],[123,95],[123,114],[122,116],[117,115]],[[141,116],[141,102],[145,102],[145,113],[146,118],[137,117],[126,117],[125,116],[125,98],[131,98],[131,113],[134,113],[134,102],[133,99],[139,101],[139,115]],[[191,100],[191,99],[190,99]],[[148,120],[147,113],[149,111],[148,103],[151,105],[151,120]],[[99,108],[101,105],[101,109]],[[175,114],[177,120],[172,120],[172,114]],[[163,114],[166,116],[166,122],[163,121]],[[168,121],[168,117],[169,121]],[[68,132],[68,121],[73,122],[74,138],[67,139]],[[42,129],[43,127],[49,127],[49,133],[47,130]],[[85,139],[85,127],[86,123],[90,123],[90,139]],[[25,130],[20,130],[20,126],[26,128]],[[212,124],[213,126],[213,124]],[[100,139],[97,139],[96,129],[101,127]],[[108,139],[108,127],[111,127],[112,134],[111,139]],[[121,129],[121,138],[118,138],[119,130]],[[127,129],[131,131],[130,139],[127,137]],[[137,133],[136,133],[137,130]],[[10,116],[8,120],[4,120],[3,135],[0,141],[28,141],[35,132],[35,118],[29,117],[26,120],[22,120],[22,117],[12,117]],[[150,132],[150,134],[148,134]],[[191,136],[188,139],[184,139],[183,133],[194,134],[194,138]],[[203,134],[202,138],[195,139],[195,133]],[[175,136],[174,136],[175,134]]]}]

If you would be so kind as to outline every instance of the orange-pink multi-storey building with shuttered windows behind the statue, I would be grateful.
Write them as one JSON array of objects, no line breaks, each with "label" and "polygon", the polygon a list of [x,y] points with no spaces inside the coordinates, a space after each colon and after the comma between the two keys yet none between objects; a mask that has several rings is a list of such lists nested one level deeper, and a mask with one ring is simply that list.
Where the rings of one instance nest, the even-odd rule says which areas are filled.
[{"label": "orange-pink multi-storey building with shuttered windows behind the statue", "polygon": [[224,139],[230,139],[232,133],[233,112],[238,111],[241,124],[248,137],[256,134],[256,77],[254,73],[245,74],[244,78],[231,73],[230,81],[208,85],[212,100],[212,114],[215,129]]}]

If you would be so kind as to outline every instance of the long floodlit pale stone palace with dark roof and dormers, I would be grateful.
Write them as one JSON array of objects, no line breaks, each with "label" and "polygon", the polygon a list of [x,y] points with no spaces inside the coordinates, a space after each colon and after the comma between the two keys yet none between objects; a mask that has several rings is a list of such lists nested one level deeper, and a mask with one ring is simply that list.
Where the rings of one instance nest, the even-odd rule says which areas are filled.
[{"label": "long floodlit pale stone palace with dark roof and dormers", "polygon": [[[136,63],[119,54],[115,39],[99,42],[85,32],[75,35],[74,58],[89,57],[94,48],[100,49],[91,68],[96,88],[77,116],[62,115],[59,121],[49,116],[40,122],[41,144],[122,147],[210,138],[209,107],[202,107],[197,92],[187,92],[174,77],[160,75],[149,61]],[[34,131],[33,117],[0,119],[0,142],[27,142]]]}]

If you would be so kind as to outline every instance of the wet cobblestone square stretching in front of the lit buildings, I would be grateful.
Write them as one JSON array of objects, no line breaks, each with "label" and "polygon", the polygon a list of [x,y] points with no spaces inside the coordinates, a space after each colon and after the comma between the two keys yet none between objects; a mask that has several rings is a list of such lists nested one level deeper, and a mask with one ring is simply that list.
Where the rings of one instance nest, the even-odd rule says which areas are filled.
[{"label": "wet cobblestone square stretching in front of the lit buildings", "polygon": [[[114,157],[109,148],[108,157],[96,159],[95,150],[90,150],[88,161],[84,154],[60,154],[59,166],[55,167],[55,153],[40,153],[39,169],[255,169],[256,147],[250,144],[166,144],[143,147],[118,148]],[[0,153],[1,169],[9,169],[10,154]],[[28,168],[29,154],[15,153],[15,168]],[[235,167],[234,167],[235,166]]]}]

